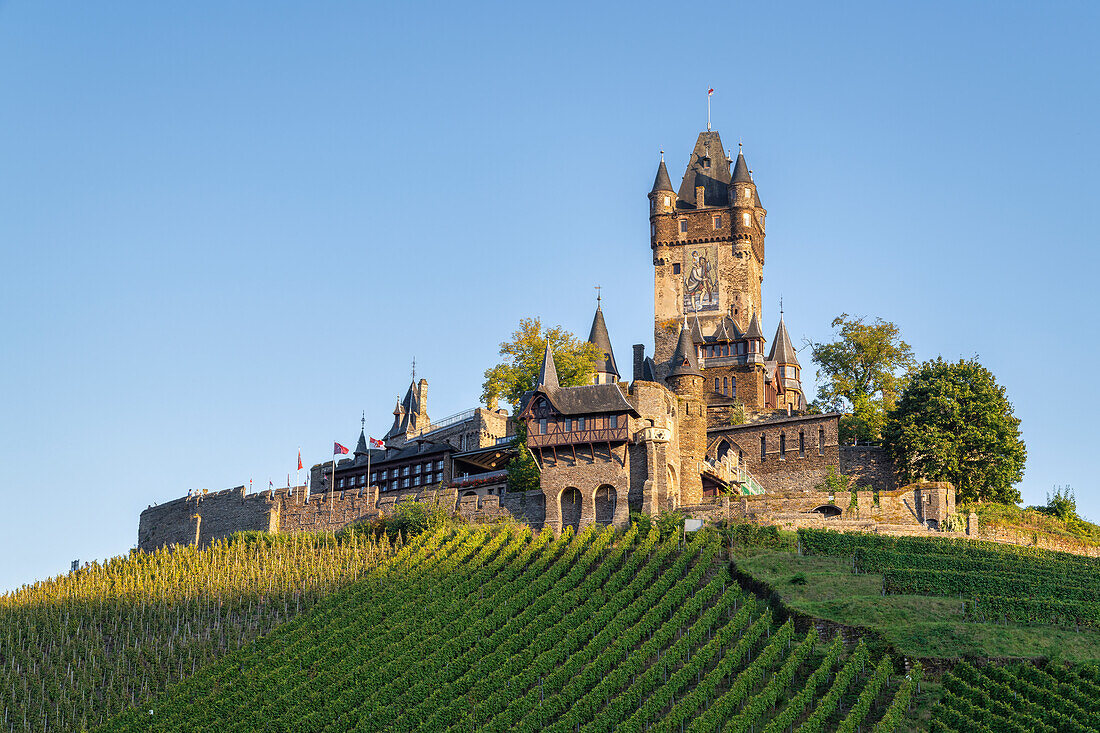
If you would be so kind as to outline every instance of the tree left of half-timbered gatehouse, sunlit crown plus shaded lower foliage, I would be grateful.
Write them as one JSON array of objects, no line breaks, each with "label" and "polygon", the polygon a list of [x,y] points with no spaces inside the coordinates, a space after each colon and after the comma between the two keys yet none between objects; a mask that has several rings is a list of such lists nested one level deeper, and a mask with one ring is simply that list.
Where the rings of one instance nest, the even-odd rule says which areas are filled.
[{"label": "tree left of half-timbered gatehouse, sunlit crown plus shaded lower foliage", "polygon": [[[510,341],[501,344],[504,361],[485,370],[482,384],[482,401],[493,409],[502,398],[512,405],[512,414],[518,415],[522,408],[524,395],[535,389],[535,381],[542,365],[547,339],[553,351],[553,363],[558,370],[559,386],[591,384],[595,373],[600,349],[581,340],[561,326],[544,333],[538,318],[524,318]],[[516,457],[508,461],[508,491],[529,491],[539,488],[539,468],[527,448],[527,430],[516,426]]]}]

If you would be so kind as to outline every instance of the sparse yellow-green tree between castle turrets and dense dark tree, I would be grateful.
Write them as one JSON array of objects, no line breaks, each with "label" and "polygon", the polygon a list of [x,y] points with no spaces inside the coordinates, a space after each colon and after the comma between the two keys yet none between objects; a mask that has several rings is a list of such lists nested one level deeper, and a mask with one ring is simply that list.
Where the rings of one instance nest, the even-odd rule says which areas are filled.
[{"label": "sparse yellow-green tree between castle turrets and dense dark tree", "polygon": [[843,441],[877,442],[887,411],[916,363],[913,349],[901,340],[898,326],[881,318],[868,324],[840,314],[833,328],[834,341],[811,344],[821,381],[816,406],[845,414]]}]

